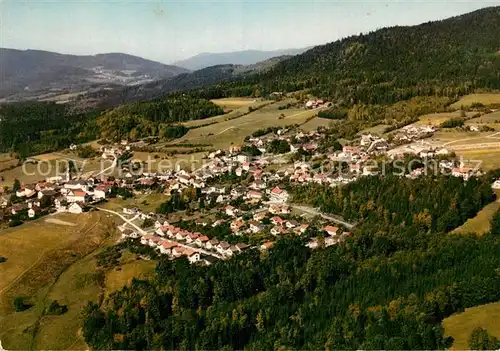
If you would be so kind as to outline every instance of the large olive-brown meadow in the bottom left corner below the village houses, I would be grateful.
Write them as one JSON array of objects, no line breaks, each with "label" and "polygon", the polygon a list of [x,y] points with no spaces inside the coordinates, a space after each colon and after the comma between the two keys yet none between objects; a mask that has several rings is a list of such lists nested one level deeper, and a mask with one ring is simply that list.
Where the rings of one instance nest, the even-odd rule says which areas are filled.
[{"label": "large olive-brown meadow in the bottom left corner below the village houses", "polygon": [[[4,347],[88,349],[80,335],[82,308],[88,301],[101,301],[108,291],[107,282],[109,289],[118,289],[135,272],[146,277],[154,266],[130,257],[123,274],[97,270],[95,255],[115,242],[115,228],[115,216],[91,212],[58,214],[0,231],[0,256],[7,258],[0,264],[0,340]],[[23,296],[31,307],[14,312],[15,296]],[[44,310],[53,300],[68,311],[46,315]]]}]

